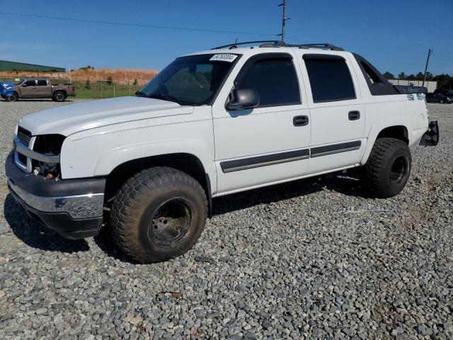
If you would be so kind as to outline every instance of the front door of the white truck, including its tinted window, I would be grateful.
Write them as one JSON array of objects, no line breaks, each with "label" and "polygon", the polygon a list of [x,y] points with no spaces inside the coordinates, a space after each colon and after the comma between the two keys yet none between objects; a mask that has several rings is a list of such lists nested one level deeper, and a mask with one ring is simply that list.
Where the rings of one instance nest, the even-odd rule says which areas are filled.
[{"label": "front door of the white truck, including its tinted window", "polygon": [[[231,74],[213,106],[217,195],[295,179],[309,160],[310,113],[300,69],[288,53],[255,55]],[[256,89],[260,104],[227,111],[233,89]]]}]

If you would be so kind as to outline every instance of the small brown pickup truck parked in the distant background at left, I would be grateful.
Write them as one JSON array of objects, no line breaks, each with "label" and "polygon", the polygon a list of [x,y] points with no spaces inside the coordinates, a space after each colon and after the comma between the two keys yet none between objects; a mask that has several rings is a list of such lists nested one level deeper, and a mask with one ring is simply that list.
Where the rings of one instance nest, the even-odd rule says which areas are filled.
[{"label": "small brown pickup truck parked in the distant background at left", "polygon": [[14,86],[11,101],[19,98],[52,98],[52,101],[65,101],[68,96],[76,96],[76,87],[71,84],[52,85],[49,79],[21,79]]}]

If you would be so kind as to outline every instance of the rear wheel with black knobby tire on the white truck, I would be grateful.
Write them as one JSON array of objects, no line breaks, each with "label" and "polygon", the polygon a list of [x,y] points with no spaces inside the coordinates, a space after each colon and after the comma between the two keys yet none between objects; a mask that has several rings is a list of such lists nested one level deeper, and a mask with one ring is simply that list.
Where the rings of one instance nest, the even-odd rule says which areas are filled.
[{"label": "rear wheel with black knobby tire on the white truck", "polygon": [[364,169],[369,191],[378,198],[398,195],[408,182],[411,164],[411,151],[406,142],[377,139]]}]

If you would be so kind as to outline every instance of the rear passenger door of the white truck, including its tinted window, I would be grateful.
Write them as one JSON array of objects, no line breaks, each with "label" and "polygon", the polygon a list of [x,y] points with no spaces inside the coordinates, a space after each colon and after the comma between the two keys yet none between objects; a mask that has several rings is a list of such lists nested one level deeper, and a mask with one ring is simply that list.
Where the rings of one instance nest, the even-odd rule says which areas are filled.
[{"label": "rear passenger door of the white truck, including its tinted window", "polygon": [[365,149],[365,106],[348,56],[300,55],[311,113],[307,174],[358,164]]}]

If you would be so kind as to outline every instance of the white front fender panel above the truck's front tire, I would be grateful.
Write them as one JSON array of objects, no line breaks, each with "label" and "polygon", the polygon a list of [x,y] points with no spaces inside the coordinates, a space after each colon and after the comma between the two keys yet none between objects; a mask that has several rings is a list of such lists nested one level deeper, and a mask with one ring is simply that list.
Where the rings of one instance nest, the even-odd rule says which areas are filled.
[{"label": "white front fender panel above the truck's front tire", "polygon": [[[174,153],[193,154],[210,179],[216,179],[210,106],[197,106],[190,115],[108,125],[70,135],[62,147],[62,178],[105,176],[132,159]],[[211,181],[214,191],[215,181]]]}]

